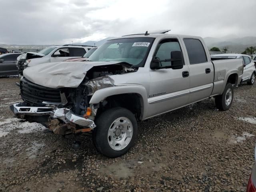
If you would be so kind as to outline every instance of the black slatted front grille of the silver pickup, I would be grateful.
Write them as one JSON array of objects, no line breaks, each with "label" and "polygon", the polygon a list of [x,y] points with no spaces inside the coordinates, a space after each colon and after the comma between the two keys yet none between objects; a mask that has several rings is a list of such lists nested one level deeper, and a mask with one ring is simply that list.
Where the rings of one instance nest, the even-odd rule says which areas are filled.
[{"label": "black slatted front grille of the silver pickup", "polygon": [[34,84],[26,78],[20,80],[20,93],[24,101],[36,106],[45,106],[43,101],[61,102],[60,90]]}]

